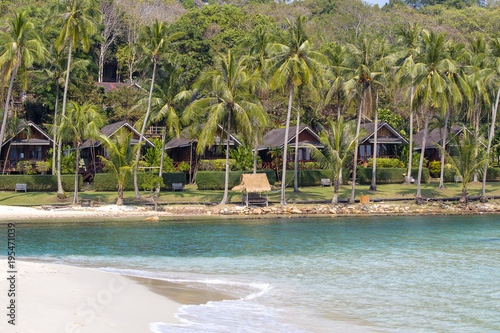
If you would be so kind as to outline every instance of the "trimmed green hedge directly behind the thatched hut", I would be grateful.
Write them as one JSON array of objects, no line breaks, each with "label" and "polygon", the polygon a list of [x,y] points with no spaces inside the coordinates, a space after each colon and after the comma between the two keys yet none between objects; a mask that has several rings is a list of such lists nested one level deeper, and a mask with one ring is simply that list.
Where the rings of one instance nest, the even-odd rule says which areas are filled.
[{"label": "trimmed green hedge directly behind the thatched hut", "polygon": [[[276,174],[274,170],[257,171],[267,174],[269,184],[276,183]],[[241,175],[251,173],[249,171],[229,171],[229,188],[239,185]],[[196,173],[196,185],[198,190],[223,190],[226,173],[224,171],[198,171]]]}]

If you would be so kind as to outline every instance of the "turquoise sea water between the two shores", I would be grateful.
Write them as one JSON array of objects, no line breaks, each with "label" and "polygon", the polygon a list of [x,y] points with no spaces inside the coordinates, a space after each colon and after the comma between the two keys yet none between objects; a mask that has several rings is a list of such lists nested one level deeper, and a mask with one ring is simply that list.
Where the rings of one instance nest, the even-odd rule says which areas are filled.
[{"label": "turquoise sea water between the two shores", "polygon": [[236,297],[153,332],[500,332],[498,215],[18,223],[17,244]]}]

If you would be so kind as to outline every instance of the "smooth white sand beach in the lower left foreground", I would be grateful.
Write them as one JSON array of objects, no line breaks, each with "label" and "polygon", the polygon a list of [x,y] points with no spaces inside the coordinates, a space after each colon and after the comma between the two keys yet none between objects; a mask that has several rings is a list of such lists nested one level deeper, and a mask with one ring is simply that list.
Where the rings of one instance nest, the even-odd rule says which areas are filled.
[{"label": "smooth white sand beach in the lower left foreground", "polygon": [[[0,304],[6,333],[139,333],[153,322],[180,323],[180,303],[124,276],[92,269],[16,262],[15,326],[8,324],[10,282],[0,260]],[[7,276],[6,276],[7,275]],[[9,319],[10,320],[10,319]]]}]

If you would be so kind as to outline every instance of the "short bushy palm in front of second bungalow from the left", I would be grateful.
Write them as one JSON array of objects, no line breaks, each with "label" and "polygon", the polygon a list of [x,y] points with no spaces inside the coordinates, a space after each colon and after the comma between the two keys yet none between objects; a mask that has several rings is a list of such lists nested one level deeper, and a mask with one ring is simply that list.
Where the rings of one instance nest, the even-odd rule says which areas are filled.
[{"label": "short bushy palm in front of second bungalow from the left", "polygon": [[100,156],[101,160],[103,164],[108,166],[113,171],[118,182],[117,205],[123,205],[123,190],[125,187],[125,181],[132,174],[135,168],[135,152],[139,149],[139,145],[132,146],[132,136],[133,133],[127,132],[124,128],[121,128],[113,139],[110,139],[105,135],[100,136],[109,155],[109,159]]}]

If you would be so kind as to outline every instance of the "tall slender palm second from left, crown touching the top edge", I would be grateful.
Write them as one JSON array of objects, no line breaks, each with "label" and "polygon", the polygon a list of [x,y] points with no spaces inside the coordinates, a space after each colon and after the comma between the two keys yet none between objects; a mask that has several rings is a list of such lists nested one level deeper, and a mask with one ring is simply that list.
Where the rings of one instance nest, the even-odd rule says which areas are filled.
[{"label": "tall slender palm second from left, crown touching the top edge", "polygon": [[[64,81],[64,93],[61,115],[66,114],[66,100],[68,95],[69,76],[71,69],[71,54],[76,50],[79,43],[85,52],[90,49],[90,37],[97,31],[96,22],[100,21],[100,12],[95,0],[61,0],[55,3],[53,12],[59,13],[56,24],[61,24],[61,32],[54,45],[60,52],[69,42],[68,61],[66,67],[66,79]],[[59,126],[57,126],[59,128]],[[62,141],[59,136],[57,148],[57,197],[64,197],[61,182],[61,150]]]}]

